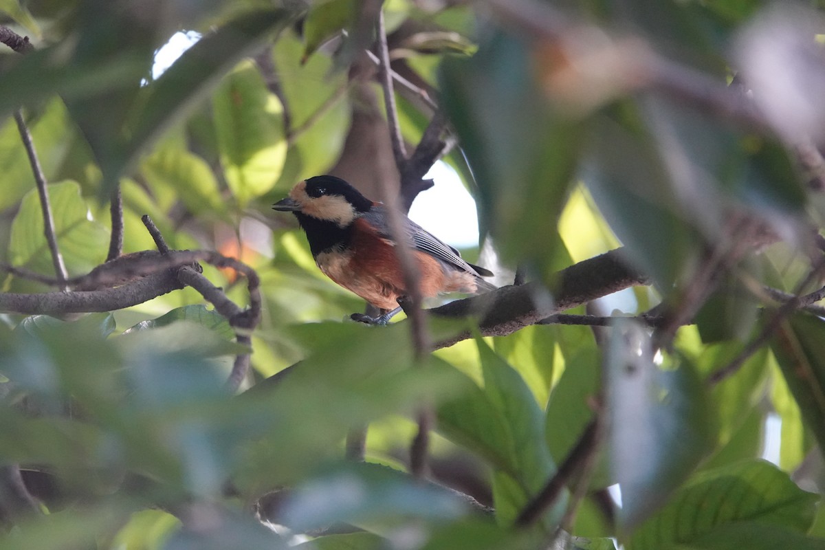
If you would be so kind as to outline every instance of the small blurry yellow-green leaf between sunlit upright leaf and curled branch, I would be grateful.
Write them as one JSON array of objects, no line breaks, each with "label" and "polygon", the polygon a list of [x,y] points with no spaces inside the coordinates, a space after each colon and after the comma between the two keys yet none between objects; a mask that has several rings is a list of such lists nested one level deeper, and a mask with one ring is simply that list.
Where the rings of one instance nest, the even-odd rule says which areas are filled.
[{"label": "small blurry yellow-green leaf between sunlit upright leaf and curled branch", "polygon": [[154,186],[168,186],[192,214],[226,215],[218,180],[212,168],[185,149],[162,148],[142,163],[142,172]]}]

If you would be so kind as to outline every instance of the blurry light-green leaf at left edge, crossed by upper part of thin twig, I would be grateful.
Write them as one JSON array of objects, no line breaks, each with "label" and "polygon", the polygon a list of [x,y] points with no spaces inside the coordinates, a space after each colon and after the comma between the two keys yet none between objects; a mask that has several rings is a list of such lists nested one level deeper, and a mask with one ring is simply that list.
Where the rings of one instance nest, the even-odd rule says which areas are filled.
[{"label": "blurry light-green leaf at left edge, crossed by upper part of thin twig", "polygon": [[[68,150],[68,141],[74,135],[63,102],[53,99],[36,118],[26,118],[26,125],[35,144],[40,167],[51,181],[56,176],[60,164]],[[31,162],[23,148],[20,131],[10,117],[0,129],[0,172],[4,175],[0,209],[7,209],[21,200],[27,190],[35,186],[35,176]]]}]

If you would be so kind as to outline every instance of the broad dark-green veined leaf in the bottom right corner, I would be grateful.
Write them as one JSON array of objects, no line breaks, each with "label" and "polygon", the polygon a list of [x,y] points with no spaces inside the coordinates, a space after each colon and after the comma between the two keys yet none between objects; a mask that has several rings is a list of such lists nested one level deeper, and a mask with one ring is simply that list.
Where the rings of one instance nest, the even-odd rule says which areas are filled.
[{"label": "broad dark-green veined leaf in the bottom right corner", "polygon": [[[636,530],[628,546],[631,550],[662,550],[677,544],[734,548],[730,544],[742,541],[744,526],[757,532],[770,528],[804,534],[813,521],[817,501],[817,495],[797,487],[788,474],[771,463],[736,463],[696,476]],[[733,533],[738,533],[737,538],[728,538]],[[708,546],[709,541],[714,545]],[[742,541],[736,548],[797,547],[752,547]]]}]

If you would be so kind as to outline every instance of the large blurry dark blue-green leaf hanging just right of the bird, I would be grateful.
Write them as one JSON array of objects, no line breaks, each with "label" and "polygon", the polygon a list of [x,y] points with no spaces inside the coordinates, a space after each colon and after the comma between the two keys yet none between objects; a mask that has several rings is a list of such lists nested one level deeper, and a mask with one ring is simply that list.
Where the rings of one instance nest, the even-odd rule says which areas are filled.
[{"label": "large blurry dark blue-green leaf hanging just right of the bird", "polygon": [[446,58],[441,87],[479,184],[482,233],[507,261],[549,270],[582,124],[549,110],[529,51],[512,35],[496,35],[470,59]]}]

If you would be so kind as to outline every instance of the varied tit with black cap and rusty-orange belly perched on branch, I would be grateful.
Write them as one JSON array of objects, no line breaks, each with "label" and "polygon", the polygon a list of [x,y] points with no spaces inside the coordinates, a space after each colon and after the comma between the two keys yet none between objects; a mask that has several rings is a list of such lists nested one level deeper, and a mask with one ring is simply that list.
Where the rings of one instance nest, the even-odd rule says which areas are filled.
[{"label": "varied tit with black cap and rusty-orange belly perched on branch", "polygon": [[[376,319],[358,314],[354,319],[383,324],[398,313],[398,299],[405,299],[408,292],[383,204],[365,198],[341,178],[315,176],[301,181],[272,208],[295,214],[325,275],[387,312]],[[423,297],[496,288],[481,278],[493,275],[490,271],[467,263],[459,251],[406,216],[403,226],[417,261]]]}]

